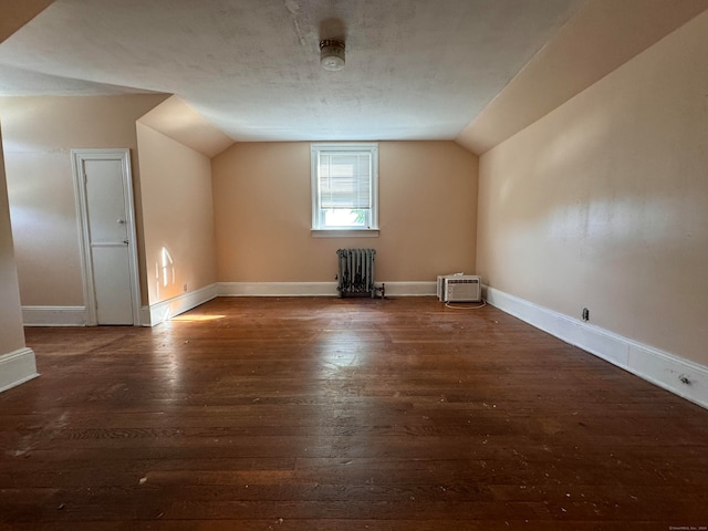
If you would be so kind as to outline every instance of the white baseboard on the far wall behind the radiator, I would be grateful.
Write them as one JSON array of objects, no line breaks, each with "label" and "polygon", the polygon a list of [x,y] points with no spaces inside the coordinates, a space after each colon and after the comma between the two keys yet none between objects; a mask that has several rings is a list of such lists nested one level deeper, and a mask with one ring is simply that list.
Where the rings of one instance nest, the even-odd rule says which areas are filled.
[{"label": "white baseboard on the far wall behind the radiator", "polygon": [[[386,296],[435,295],[436,282],[384,282]],[[376,282],[381,285],[381,282]],[[219,296],[339,296],[336,282],[219,282]]]}]

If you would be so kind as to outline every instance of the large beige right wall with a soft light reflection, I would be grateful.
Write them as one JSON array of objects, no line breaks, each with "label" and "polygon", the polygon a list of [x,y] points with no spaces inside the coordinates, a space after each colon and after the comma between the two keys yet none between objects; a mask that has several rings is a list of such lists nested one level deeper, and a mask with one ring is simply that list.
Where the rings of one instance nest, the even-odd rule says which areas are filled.
[{"label": "large beige right wall with a soft light reflection", "polygon": [[478,270],[708,364],[708,13],[480,159]]}]

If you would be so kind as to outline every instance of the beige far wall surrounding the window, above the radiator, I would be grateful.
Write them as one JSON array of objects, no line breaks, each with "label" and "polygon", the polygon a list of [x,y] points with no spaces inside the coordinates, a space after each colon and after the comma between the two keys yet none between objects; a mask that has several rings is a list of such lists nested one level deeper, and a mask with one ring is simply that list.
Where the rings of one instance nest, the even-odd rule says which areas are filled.
[{"label": "beige far wall surrounding the window, above the radiator", "polygon": [[212,159],[222,282],[333,282],[336,250],[377,250],[377,281],[475,270],[477,157],[452,142],[379,144],[378,238],[311,236],[310,144],[236,144]]}]

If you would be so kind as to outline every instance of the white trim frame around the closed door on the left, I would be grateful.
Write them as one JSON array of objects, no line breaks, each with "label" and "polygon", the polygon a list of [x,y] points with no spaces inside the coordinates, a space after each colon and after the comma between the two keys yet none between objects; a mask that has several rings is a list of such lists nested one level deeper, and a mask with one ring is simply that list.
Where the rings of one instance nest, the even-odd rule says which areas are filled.
[{"label": "white trim frame around the closed door on the left", "polygon": [[86,325],[96,326],[96,294],[94,290],[94,273],[91,260],[91,235],[88,232],[88,215],[86,208],[86,180],[84,175],[85,160],[119,160],[125,190],[126,230],[128,235],[128,268],[131,275],[131,296],[133,299],[133,325],[140,324],[140,281],[137,261],[137,238],[135,230],[135,206],[133,198],[133,176],[131,173],[131,149],[100,148],[72,149],[71,162],[74,175],[74,197],[76,201],[76,220],[79,225],[79,249],[81,253],[81,277],[84,289],[84,304],[86,309]]}]

